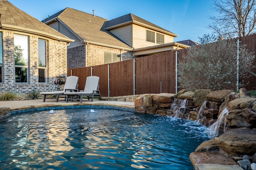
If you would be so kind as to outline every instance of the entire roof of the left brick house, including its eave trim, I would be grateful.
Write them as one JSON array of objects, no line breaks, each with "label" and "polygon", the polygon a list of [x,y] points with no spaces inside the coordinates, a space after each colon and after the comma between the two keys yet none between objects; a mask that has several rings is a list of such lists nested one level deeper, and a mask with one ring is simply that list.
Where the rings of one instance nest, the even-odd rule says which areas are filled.
[{"label": "entire roof of the left brick house, including its eave trim", "polygon": [[24,31],[66,42],[73,41],[62,33],[59,33],[26,12],[20,10],[8,0],[0,0],[0,14],[2,14],[0,23],[3,29]]}]

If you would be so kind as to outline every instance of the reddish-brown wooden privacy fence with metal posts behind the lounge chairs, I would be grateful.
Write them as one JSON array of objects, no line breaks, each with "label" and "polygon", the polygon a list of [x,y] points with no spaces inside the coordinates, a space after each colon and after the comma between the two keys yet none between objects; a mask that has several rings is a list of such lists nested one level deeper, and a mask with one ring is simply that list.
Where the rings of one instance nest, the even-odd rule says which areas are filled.
[{"label": "reddish-brown wooden privacy fence with metal posts behind the lounge chairs", "polygon": [[[256,51],[256,34],[239,39],[242,44],[247,45],[250,52]],[[79,77],[79,90],[84,90],[87,76],[99,76],[100,93],[103,97],[176,93],[181,90],[176,88],[176,55],[178,61],[182,61],[182,56],[187,51],[188,49],[180,49],[118,63],[72,68],[68,69],[67,75]],[[256,59],[254,64],[255,61]],[[245,86],[247,90],[256,90],[256,76],[244,80],[249,81]]]}]

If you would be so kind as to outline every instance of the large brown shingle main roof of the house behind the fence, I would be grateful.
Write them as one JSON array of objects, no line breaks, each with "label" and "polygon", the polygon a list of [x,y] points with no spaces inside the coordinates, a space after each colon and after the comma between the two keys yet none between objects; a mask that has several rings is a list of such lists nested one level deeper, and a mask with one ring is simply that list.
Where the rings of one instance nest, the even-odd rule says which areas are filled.
[{"label": "large brown shingle main roof of the house behind the fence", "polygon": [[50,22],[50,20],[53,20],[56,17],[83,39],[84,42],[132,49],[132,47],[124,43],[110,31],[104,29],[108,21],[104,18],[72,8],[66,8],[49,18],[46,18],[44,22]]}]

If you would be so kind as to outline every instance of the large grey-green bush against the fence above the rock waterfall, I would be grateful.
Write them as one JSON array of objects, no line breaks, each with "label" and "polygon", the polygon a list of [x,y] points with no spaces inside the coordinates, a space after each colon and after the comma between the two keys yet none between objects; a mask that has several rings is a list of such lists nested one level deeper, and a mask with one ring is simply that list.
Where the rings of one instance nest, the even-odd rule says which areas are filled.
[{"label": "large grey-green bush against the fence above the rock waterfall", "polygon": [[[220,40],[215,43],[190,47],[184,60],[178,64],[178,81],[187,90],[236,89],[237,44],[232,40]],[[240,45],[239,77],[250,76],[254,55],[245,45]],[[242,69],[243,68],[243,69]],[[247,82],[240,82],[244,86]]]}]

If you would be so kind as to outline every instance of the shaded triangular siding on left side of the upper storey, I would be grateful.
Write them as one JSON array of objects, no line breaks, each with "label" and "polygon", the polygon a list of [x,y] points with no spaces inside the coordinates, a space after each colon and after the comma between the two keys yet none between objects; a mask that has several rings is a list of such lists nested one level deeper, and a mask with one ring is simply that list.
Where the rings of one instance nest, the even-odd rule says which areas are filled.
[{"label": "shaded triangular siding on left side of the upper storey", "polygon": [[132,24],[111,29],[110,32],[132,47]]}]

